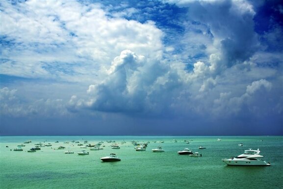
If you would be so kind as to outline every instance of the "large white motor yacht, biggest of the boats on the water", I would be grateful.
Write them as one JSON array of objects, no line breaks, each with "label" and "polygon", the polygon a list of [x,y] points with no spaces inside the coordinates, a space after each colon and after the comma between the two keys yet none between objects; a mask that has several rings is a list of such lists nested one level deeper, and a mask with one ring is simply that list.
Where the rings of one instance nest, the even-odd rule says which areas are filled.
[{"label": "large white motor yacht, biggest of the boats on the water", "polygon": [[270,165],[270,163],[260,160],[263,156],[259,155],[260,151],[257,150],[245,150],[244,154],[241,154],[235,158],[222,159],[227,165]]}]

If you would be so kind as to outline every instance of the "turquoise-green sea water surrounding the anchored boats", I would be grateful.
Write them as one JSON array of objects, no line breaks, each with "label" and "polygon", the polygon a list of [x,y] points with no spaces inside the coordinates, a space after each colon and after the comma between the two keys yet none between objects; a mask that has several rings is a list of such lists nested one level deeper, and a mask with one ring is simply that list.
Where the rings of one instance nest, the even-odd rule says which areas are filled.
[{"label": "turquoise-green sea water surrounding the anchored boats", "polygon": [[[216,141],[221,138],[222,141]],[[178,142],[173,142],[176,139]],[[190,139],[190,144],[184,140]],[[10,151],[26,140],[23,151]],[[54,143],[58,140],[59,143]],[[78,156],[80,149],[71,140],[96,144],[103,150]],[[120,149],[111,149],[115,140]],[[150,142],[146,151],[135,151],[131,141]],[[164,143],[160,143],[163,140]],[[262,141],[261,141],[262,140]],[[63,143],[70,141],[69,144]],[[121,144],[122,141],[126,143]],[[155,141],[155,143],[154,143]],[[51,143],[35,153],[34,144]],[[244,146],[238,146],[243,143]],[[65,150],[54,150],[58,146]],[[153,153],[161,145],[165,152]],[[206,149],[199,150],[199,146]],[[8,148],[5,146],[9,146]],[[189,148],[202,157],[180,156]],[[227,166],[223,158],[235,157],[245,149],[261,150],[271,166]],[[75,154],[64,154],[73,150]],[[102,162],[101,157],[116,153],[121,162]],[[282,189],[282,136],[1,136],[1,189]]]}]

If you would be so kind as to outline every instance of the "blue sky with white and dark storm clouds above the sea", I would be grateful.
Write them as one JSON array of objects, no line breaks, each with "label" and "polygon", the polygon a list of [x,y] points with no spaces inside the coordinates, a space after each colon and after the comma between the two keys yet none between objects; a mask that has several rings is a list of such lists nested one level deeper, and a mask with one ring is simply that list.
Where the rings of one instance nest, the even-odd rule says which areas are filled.
[{"label": "blue sky with white and dark storm clouds above the sea", "polygon": [[283,135],[283,2],[1,0],[0,135]]}]

